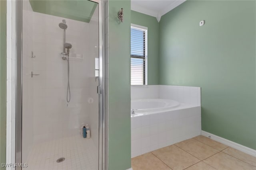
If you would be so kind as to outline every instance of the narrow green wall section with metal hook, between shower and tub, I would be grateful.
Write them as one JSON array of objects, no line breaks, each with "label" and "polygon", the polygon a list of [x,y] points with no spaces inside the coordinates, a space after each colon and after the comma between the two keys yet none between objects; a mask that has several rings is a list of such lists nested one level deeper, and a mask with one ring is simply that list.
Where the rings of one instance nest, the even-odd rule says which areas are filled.
[{"label": "narrow green wall section with metal hook, between shower and tub", "polygon": [[[109,2],[109,158],[110,170],[131,167],[130,0]],[[124,8],[124,21],[117,18]],[[125,75],[125,76],[124,76]]]}]

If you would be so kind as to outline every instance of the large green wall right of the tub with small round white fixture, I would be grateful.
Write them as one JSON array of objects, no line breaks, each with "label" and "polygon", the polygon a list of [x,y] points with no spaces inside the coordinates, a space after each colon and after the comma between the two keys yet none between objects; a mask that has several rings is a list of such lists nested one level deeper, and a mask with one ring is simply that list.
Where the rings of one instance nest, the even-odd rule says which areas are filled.
[{"label": "large green wall right of the tub with small round white fixture", "polygon": [[160,84],[202,87],[202,130],[252,149],[255,7],[255,1],[189,0],[162,16],[159,28]]}]

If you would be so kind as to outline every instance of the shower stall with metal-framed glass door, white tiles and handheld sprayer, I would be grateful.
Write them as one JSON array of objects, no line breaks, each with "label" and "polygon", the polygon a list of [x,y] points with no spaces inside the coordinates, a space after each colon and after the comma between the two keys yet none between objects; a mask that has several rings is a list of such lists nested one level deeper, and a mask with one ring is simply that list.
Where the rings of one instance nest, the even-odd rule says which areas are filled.
[{"label": "shower stall with metal-framed glass door, white tiles and handheld sprayer", "polygon": [[101,2],[22,0],[16,17],[16,162],[104,169]]}]

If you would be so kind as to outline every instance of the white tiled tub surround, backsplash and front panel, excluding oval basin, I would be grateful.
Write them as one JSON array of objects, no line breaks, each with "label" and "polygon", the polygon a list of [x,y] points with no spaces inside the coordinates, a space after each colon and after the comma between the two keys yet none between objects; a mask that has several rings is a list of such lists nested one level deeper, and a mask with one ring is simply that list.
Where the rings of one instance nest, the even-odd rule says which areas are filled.
[{"label": "white tiled tub surround, backsplash and front panel, excluding oval basin", "polygon": [[[175,100],[179,106],[131,114],[132,157],[201,134],[200,88],[184,86],[132,87],[131,98]],[[134,108],[136,109],[136,108]]]}]

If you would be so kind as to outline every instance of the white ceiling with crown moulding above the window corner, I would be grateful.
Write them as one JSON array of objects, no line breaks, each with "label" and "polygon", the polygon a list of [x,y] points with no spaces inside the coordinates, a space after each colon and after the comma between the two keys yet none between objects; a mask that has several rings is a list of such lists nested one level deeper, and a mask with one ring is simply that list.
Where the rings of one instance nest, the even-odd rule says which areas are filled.
[{"label": "white ceiling with crown moulding above the window corner", "polygon": [[131,0],[131,9],[154,16],[159,22],[164,14],[183,2],[185,2],[185,0]]}]

